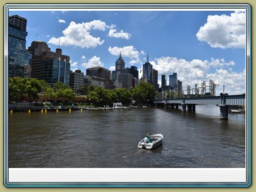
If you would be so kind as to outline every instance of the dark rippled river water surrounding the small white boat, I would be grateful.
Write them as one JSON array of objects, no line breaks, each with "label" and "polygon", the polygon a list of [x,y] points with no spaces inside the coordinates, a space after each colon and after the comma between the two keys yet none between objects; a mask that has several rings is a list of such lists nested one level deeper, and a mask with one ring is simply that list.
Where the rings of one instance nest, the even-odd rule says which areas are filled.
[{"label": "dark rippled river water surrounding the small white boat", "polygon": [[[155,107],[9,114],[9,168],[244,168],[245,114]],[[153,150],[137,145],[161,133]]]}]

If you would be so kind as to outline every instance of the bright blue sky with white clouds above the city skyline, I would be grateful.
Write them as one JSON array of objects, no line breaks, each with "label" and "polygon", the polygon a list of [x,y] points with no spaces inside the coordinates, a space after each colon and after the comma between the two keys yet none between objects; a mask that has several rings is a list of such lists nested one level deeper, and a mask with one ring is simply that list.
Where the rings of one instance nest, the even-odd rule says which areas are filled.
[{"label": "bright blue sky with white clouds above the city skyline", "polygon": [[216,95],[245,93],[244,11],[46,10],[15,9],[9,16],[27,19],[26,48],[37,40],[45,41],[51,51],[61,48],[73,71],[86,74],[86,69],[96,66],[115,71],[120,52],[125,68],[135,65],[141,71],[149,55],[160,87],[161,75],[169,85],[169,75],[177,73],[185,94],[187,85],[192,89],[205,81],[208,86],[210,79],[217,85]]}]

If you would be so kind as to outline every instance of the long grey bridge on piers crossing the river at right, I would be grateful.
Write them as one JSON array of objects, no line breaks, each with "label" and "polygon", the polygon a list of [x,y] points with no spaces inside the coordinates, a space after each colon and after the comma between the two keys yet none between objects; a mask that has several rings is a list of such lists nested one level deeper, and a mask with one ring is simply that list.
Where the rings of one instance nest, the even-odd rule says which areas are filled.
[{"label": "long grey bridge on piers crossing the river at right", "polygon": [[221,93],[220,96],[211,97],[191,97],[191,98],[179,98],[179,99],[155,99],[153,101],[155,106],[164,105],[167,108],[169,105],[171,108],[176,106],[182,106],[182,111],[195,111],[195,105],[219,105],[221,119],[228,119],[228,107],[229,105],[245,105],[245,95],[225,95]]}]

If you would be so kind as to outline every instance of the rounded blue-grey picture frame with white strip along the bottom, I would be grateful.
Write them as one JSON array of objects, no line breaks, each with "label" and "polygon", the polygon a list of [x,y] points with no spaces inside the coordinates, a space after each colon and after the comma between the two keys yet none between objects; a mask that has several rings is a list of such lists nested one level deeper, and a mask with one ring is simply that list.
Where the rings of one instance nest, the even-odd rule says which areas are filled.
[{"label": "rounded blue-grey picture frame with white strip along the bottom", "polygon": [[[213,181],[191,180],[187,181],[159,181],[159,179],[152,180],[150,182],[135,182],[133,177],[143,171],[149,171],[149,169],[12,169],[8,167],[8,16],[9,10],[17,9],[17,11],[27,9],[49,9],[49,10],[61,10],[61,9],[193,9],[198,10],[234,10],[245,9],[247,15],[246,25],[246,143],[245,143],[245,169],[154,169],[157,173],[163,175],[185,173],[199,175],[199,178],[203,179],[205,175],[209,174],[223,174],[225,177],[236,175],[241,180],[233,178],[233,180],[224,179],[223,182],[218,179]],[[152,172],[152,169],[150,169]],[[86,173],[93,173],[94,179],[97,179],[99,173],[105,175],[99,178],[98,181],[93,179],[89,182],[79,179],[81,175]],[[120,180],[118,175],[132,173],[131,178],[127,181]],[[134,174],[135,173],[135,174]],[[26,177],[20,178],[21,175],[27,174]],[[49,175],[67,174],[70,175],[70,180],[64,179],[59,181]],[[114,179],[110,177],[106,178],[106,175],[113,174]],[[200,175],[202,174],[202,175]],[[39,181],[35,178],[35,175],[39,175]],[[43,175],[40,177],[40,175]],[[78,176],[77,176],[78,175]],[[182,174],[181,174],[182,175]],[[75,178],[77,180],[71,179]],[[17,179],[18,178],[18,179]],[[20,178],[20,179],[19,179]],[[159,177],[161,178],[161,177]],[[30,179],[30,180],[29,180]],[[89,178],[87,178],[89,179]],[[104,180],[105,179],[105,180]],[[110,179],[110,180],[109,180]],[[251,185],[251,6],[249,4],[6,4],[4,7],[4,184],[6,187],[249,187]]]}]

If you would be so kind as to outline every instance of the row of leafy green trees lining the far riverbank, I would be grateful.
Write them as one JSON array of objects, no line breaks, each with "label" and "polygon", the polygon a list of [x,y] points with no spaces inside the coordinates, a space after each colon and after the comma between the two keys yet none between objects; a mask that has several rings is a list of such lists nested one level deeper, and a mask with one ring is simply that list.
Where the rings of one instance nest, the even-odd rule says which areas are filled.
[{"label": "row of leafy green trees lining the far riverbank", "polygon": [[[9,77],[9,100],[15,100],[20,95],[27,94],[29,99],[37,99],[38,93],[45,93],[45,100],[54,98],[73,101],[75,93],[64,83],[58,82],[53,88],[44,80],[33,78]],[[82,86],[79,91],[83,95],[87,95],[87,103],[93,103],[95,106],[103,107],[104,105],[112,106],[113,103],[120,101],[123,105],[129,105],[131,100],[145,102],[155,99],[157,92],[150,83],[141,82],[137,87],[127,90],[119,89],[103,89],[101,87]]]}]

